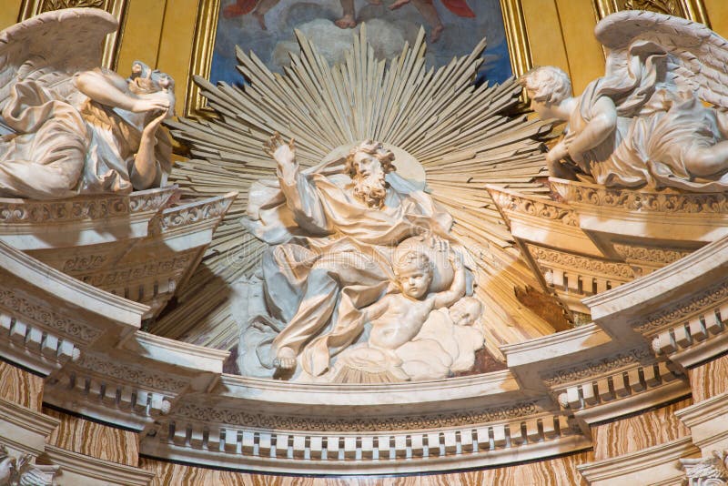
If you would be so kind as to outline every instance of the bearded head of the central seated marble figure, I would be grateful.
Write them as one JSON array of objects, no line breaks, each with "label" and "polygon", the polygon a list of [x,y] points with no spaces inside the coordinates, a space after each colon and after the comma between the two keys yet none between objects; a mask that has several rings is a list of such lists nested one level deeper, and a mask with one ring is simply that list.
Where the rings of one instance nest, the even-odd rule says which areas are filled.
[{"label": "bearded head of the central seated marble figure", "polygon": [[384,177],[395,170],[394,154],[379,142],[365,140],[349,152],[347,173],[354,181],[354,196],[369,208],[381,208],[387,197]]}]

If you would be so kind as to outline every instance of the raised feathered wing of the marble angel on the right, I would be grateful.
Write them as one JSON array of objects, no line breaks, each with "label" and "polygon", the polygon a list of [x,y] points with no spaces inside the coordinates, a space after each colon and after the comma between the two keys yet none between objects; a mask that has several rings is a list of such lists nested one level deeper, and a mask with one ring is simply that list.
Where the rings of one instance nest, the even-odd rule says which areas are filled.
[{"label": "raised feathered wing of the marble angel on the right", "polygon": [[672,15],[627,10],[605,17],[594,29],[607,48],[607,75],[625,66],[627,48],[649,41],[669,53],[673,76],[695,96],[728,107],[728,41],[703,24]]}]

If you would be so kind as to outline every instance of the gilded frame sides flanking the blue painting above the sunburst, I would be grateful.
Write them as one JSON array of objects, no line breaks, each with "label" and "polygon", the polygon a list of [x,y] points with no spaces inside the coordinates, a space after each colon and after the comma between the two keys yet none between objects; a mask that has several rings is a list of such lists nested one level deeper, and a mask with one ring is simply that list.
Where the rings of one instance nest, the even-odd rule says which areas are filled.
[{"label": "gilded frame sides flanking the blue painting above the sunburst", "polygon": [[[212,56],[217,35],[217,21],[221,0],[200,0],[197,9],[197,22],[193,39],[192,58],[190,62],[190,80],[187,85],[185,116],[208,117],[212,110],[200,94],[198,86],[192,81],[193,76],[210,76]],[[521,76],[531,69],[531,50],[523,17],[521,0],[500,0],[506,42],[511,59],[514,76]]]}]

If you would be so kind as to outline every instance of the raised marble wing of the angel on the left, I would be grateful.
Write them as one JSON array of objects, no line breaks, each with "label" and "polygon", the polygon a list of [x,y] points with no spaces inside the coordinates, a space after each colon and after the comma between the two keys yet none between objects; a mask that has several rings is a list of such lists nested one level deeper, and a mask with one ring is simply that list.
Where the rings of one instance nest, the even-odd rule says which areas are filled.
[{"label": "raised marble wing of the angel on the left", "polygon": [[117,25],[103,10],[66,8],[0,32],[0,107],[18,79],[62,90],[75,73],[101,66],[103,41]]}]

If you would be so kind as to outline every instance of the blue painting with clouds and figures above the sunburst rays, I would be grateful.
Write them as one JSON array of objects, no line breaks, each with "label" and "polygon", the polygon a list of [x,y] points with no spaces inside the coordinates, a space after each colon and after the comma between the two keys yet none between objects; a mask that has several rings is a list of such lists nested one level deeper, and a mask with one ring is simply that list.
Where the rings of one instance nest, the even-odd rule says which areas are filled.
[{"label": "blue painting with clouds and figures above the sunburst rays", "polygon": [[341,62],[362,24],[377,56],[386,59],[399,55],[405,43],[411,45],[424,27],[428,63],[436,67],[470,54],[485,37],[479,81],[500,83],[512,75],[499,0],[223,0],[210,80],[242,82],[235,46],[253,51],[270,69],[282,72],[289,53],[298,54],[295,29],[329,62]]}]

